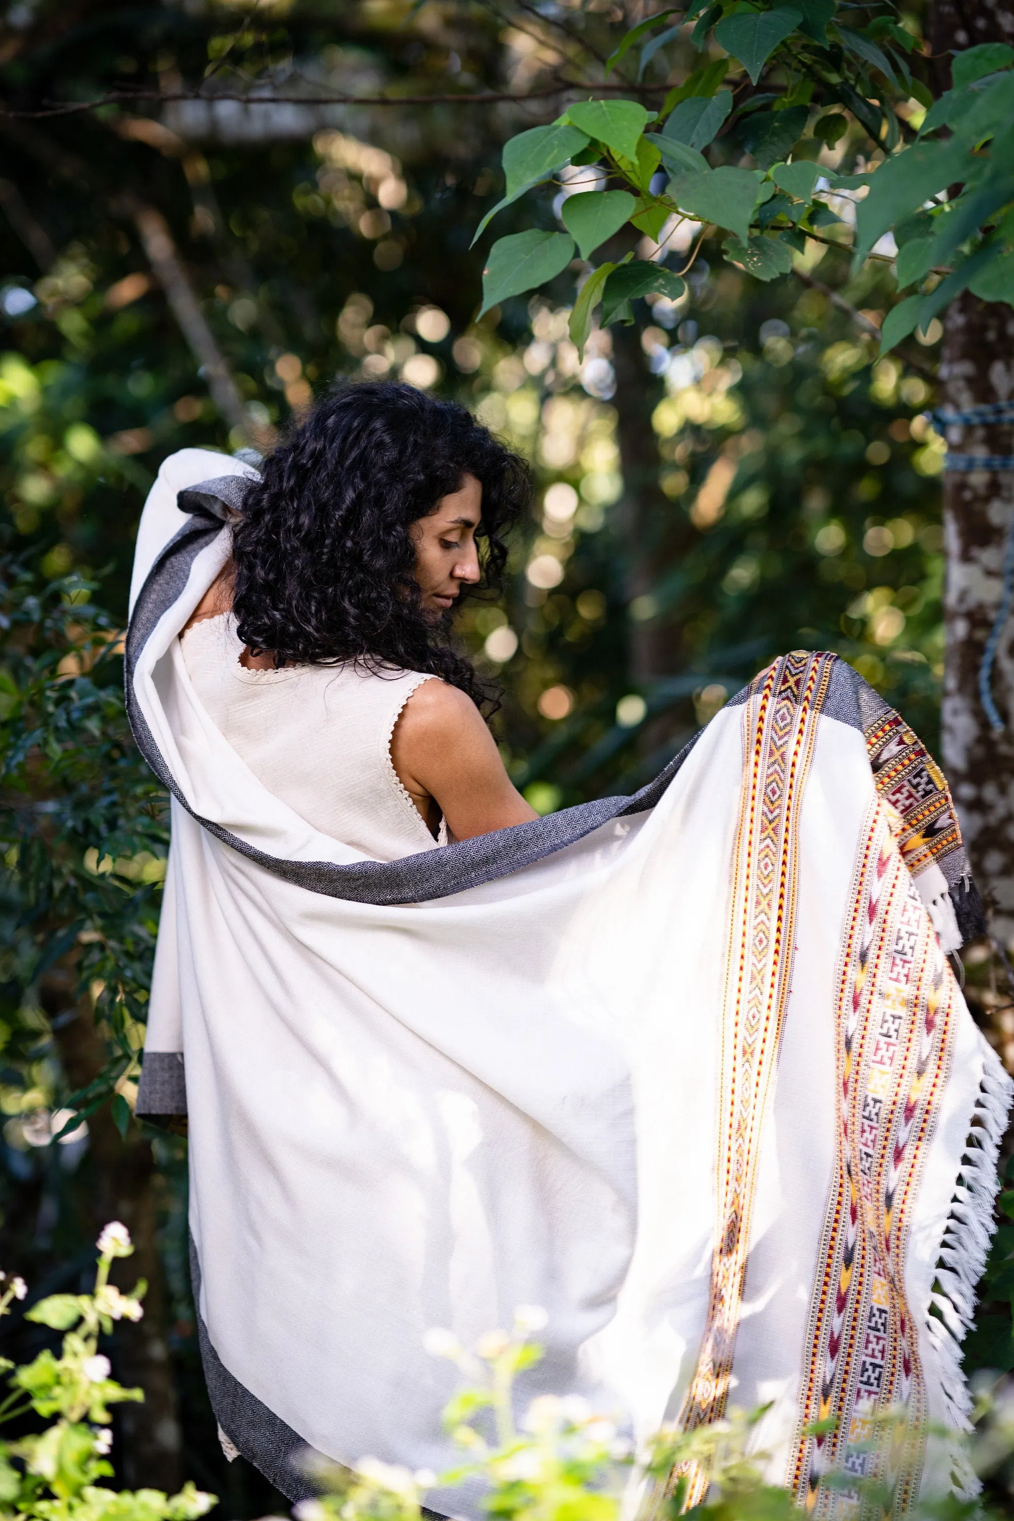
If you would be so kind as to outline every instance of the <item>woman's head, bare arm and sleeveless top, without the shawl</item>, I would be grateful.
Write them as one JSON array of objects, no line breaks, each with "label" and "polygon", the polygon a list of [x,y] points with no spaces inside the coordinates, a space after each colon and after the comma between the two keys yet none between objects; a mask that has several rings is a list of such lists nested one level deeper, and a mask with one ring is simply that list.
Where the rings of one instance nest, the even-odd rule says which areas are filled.
[{"label": "woman's head, bare arm and sleeveless top, without the shawl", "polygon": [[464,408],[342,391],[268,461],[184,630],[195,687],[251,770],[375,859],[537,817],[448,642],[529,493],[526,465]]}]

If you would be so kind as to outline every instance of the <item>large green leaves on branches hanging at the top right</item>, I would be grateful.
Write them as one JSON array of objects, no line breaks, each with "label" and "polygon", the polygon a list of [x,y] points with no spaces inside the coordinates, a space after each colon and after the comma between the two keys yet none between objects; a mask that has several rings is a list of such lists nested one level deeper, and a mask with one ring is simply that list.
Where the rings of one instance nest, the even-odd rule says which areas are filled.
[{"label": "large green leaves on branches hanging at the top right", "polygon": [[[882,9],[856,23],[857,15],[865,18],[873,11],[877,8],[838,8],[833,0],[800,8],[742,6],[734,0],[702,11],[692,6],[686,21],[701,12],[693,44],[704,52],[713,40],[727,56],[702,65],[670,90],[660,113],[649,113],[634,100],[593,99],[569,106],[553,126],[535,128],[534,132],[546,134],[543,141],[558,144],[567,125],[579,128],[585,141],[573,161],[599,166],[597,213],[593,192],[584,192],[573,210],[567,204],[562,210],[564,224],[578,236],[581,259],[590,259],[625,222],[640,231],[651,228],[664,257],[663,227],[672,236],[680,224],[699,222],[701,240],[711,230],[731,234],[724,242],[725,257],[754,278],[769,281],[792,271],[807,237],[827,240],[821,228],[829,222],[845,231],[830,213],[829,192],[868,187],[854,214],[854,268],[892,233],[902,251],[898,289],[921,287],[918,301],[908,297],[889,313],[882,353],[917,327],[927,329],[965,289],[982,300],[1014,304],[1011,49],[987,43],[958,55],[953,88],[933,100],[912,73],[915,40],[900,24],[898,14]],[[632,27],[610,67],[642,43],[663,14],[669,12]],[[643,65],[660,43],[660,35],[643,43]],[[756,91],[762,75],[765,90]],[[848,116],[829,106],[844,106]],[[824,144],[848,132],[850,117],[860,129],[854,146],[863,137],[870,140],[876,172],[842,175],[829,166],[818,176],[813,160],[829,151]],[[520,184],[511,167],[515,143],[531,140],[534,132],[506,144],[508,196],[488,213],[480,231],[496,211],[537,183],[535,169]],[[724,160],[736,143],[753,154],[757,169],[704,157],[711,148],[711,157]],[[660,164],[669,176],[664,186],[655,183]],[[538,178],[566,167],[544,163]],[[625,190],[602,195],[605,184]],[[955,184],[961,192],[949,198]],[[626,205],[617,199],[623,193],[635,199]],[[500,246],[493,246],[491,266],[499,265]],[[558,248],[562,254],[562,245]],[[558,268],[543,272],[538,263],[518,266],[509,289],[537,289],[558,272]],[[497,289],[506,294],[508,286],[502,281]],[[590,289],[585,283],[584,289],[585,306],[594,307],[604,298],[605,277]],[[494,300],[499,297],[488,292],[486,307]],[[622,304],[602,312],[607,325],[631,319]],[[579,332],[587,330],[590,313],[588,319],[582,313]]]}]

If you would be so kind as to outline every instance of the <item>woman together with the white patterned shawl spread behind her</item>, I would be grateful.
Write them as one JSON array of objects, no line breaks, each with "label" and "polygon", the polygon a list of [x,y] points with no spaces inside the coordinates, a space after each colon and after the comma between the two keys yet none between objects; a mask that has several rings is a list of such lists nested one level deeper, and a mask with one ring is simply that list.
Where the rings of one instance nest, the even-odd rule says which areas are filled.
[{"label": "woman together with the white patterned shawl spread behind her", "polygon": [[821,1474],[883,1471],[879,1415],[964,1421],[1011,1092],[946,958],[981,931],[947,788],[795,651],[642,792],[532,817],[448,636],[526,499],[459,408],[360,386],[263,476],[166,461],[141,519],[138,1112],[189,1113],[223,1443],[290,1497],[306,1448],[439,1472],[426,1332],[538,1305],[521,1398],[640,1436],[765,1404],[772,1480],[853,1510]]}]

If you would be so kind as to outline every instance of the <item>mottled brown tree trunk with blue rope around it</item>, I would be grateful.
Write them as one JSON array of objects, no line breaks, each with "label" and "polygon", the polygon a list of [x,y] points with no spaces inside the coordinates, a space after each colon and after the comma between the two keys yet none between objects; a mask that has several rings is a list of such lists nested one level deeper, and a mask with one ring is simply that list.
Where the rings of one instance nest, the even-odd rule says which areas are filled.
[{"label": "mottled brown tree trunk with blue rope around it", "polygon": [[[938,0],[933,55],[978,43],[1014,43],[1014,11],[997,0]],[[949,70],[947,56],[940,62]],[[936,81],[944,90],[950,79]],[[964,411],[1014,397],[1014,310],[965,292],[947,309],[940,400]],[[953,429],[961,453],[1014,453],[1009,426]],[[943,760],[991,928],[1014,948],[1014,622],[993,668],[994,732],[979,695],[979,668],[1002,596],[1003,551],[1014,519],[1012,472],[949,472],[944,479],[947,575]]]}]

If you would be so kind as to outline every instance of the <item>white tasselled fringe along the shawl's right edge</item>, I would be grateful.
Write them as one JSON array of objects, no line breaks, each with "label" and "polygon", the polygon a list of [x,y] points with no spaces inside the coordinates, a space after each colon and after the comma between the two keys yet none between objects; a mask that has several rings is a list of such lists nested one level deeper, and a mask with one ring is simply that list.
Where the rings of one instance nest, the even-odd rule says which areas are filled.
[{"label": "white tasselled fringe along the shawl's right edge", "polygon": [[[1000,1186],[996,1164],[1014,1098],[1014,1081],[1003,1071],[996,1051],[985,1040],[982,1043],[985,1059],[979,1095],[930,1294],[930,1310],[936,1310],[936,1314],[926,1316],[926,1335],[936,1354],[947,1421],[955,1431],[971,1430],[971,1395],[961,1367],[961,1343],[971,1328],[976,1285],[990,1252],[993,1200]],[[979,1491],[979,1481],[961,1448],[953,1453],[952,1474],[956,1492],[971,1500]]]}]

